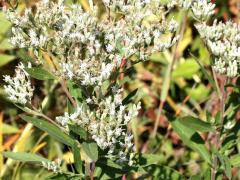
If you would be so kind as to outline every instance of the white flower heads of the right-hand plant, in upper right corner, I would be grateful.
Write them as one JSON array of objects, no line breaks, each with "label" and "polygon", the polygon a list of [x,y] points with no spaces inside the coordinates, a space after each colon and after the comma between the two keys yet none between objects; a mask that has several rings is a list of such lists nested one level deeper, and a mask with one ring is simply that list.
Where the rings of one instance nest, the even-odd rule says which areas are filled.
[{"label": "white flower heads of the right-hand plant, in upper right corner", "polygon": [[216,20],[208,26],[207,21],[215,8],[210,0],[171,0],[169,5],[192,11],[199,22],[196,28],[214,55],[214,70],[228,77],[236,77],[239,74],[240,26],[230,21],[218,23]]}]

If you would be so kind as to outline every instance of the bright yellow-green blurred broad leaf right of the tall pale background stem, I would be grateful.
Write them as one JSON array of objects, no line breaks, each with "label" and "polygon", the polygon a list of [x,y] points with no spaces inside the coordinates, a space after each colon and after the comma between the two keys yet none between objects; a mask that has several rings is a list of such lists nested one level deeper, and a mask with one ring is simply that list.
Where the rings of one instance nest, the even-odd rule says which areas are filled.
[{"label": "bright yellow-green blurred broad leaf right of the tall pale background stem", "polygon": [[178,65],[178,67],[173,71],[172,76],[173,78],[183,77],[191,79],[199,69],[198,63],[196,63],[194,59],[189,59]]}]

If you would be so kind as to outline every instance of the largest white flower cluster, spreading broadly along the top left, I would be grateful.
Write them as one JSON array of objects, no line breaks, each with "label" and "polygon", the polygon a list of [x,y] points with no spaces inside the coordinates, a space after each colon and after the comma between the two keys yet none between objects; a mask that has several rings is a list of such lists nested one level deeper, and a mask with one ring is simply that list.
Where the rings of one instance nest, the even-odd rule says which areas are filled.
[{"label": "largest white flower cluster, spreading broadly along the top left", "polygon": [[[177,23],[165,20],[158,0],[103,1],[109,17],[98,18],[98,8],[85,12],[63,1],[42,1],[23,16],[6,11],[13,23],[11,42],[20,48],[42,49],[57,59],[57,71],[82,85],[101,85],[123,59],[146,59],[171,47]],[[113,8],[114,7],[114,8]],[[106,8],[108,9],[108,8]],[[108,13],[106,13],[108,14]]]}]

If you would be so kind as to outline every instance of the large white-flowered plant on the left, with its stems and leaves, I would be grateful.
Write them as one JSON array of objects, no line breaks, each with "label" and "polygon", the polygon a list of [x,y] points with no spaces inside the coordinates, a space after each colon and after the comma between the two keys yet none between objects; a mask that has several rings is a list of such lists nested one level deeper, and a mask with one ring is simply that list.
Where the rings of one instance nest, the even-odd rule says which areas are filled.
[{"label": "large white-flowered plant on the left, with its stems and leaves", "polygon": [[[103,18],[92,1],[89,10],[77,4],[66,6],[61,0],[40,1],[23,15],[15,9],[5,10],[13,24],[10,42],[31,50],[35,58],[32,63],[20,63],[14,77],[4,76],[6,93],[18,107],[35,115],[22,119],[72,148],[80,177],[93,177],[100,153],[103,159],[123,167],[136,164],[128,124],[141,106],[131,102],[130,96],[123,97],[118,77],[131,67],[132,59],[144,61],[178,40],[177,23],[165,19],[170,8],[160,1],[104,0],[103,4]],[[46,55],[50,65],[45,62]],[[52,120],[41,112],[42,107],[34,107],[31,78],[57,80],[70,102],[68,112]],[[88,157],[85,165],[80,149]],[[41,162],[55,173],[64,173],[60,162]]]}]

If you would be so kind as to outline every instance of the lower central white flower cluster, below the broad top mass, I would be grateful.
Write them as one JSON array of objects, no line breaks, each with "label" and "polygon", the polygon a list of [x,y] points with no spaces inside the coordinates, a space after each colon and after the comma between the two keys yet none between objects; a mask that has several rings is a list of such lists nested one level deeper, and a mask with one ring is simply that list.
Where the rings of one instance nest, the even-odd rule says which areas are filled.
[{"label": "lower central white flower cluster, below the broad top mass", "polygon": [[65,113],[56,120],[63,126],[77,124],[88,131],[93,140],[108,156],[119,162],[132,164],[133,136],[127,132],[130,120],[138,115],[140,104],[122,104],[122,90],[112,96],[87,99],[73,114]]}]

